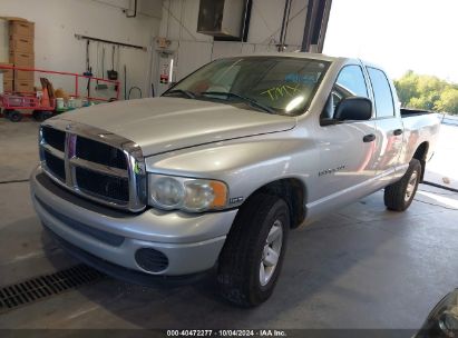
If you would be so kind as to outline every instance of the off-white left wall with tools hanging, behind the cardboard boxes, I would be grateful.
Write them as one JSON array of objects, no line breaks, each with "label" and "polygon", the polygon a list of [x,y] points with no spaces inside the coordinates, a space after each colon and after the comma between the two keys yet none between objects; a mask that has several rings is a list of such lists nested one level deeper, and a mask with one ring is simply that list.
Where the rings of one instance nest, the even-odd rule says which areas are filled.
[{"label": "off-white left wall with tools hanging, behind the cardboard boxes", "polygon": [[[82,73],[86,69],[86,42],[75,39],[75,33],[150,47],[158,34],[162,0],[140,1],[140,13],[128,19],[123,8],[129,0],[1,0],[1,17],[21,17],[36,22],[36,68]],[[6,22],[0,21],[0,62],[8,62]],[[98,50],[98,51],[97,51]],[[106,46],[105,70],[111,68],[111,47]],[[150,49],[139,51],[121,48],[118,71],[127,66],[127,86],[138,86],[147,92],[150,69]],[[92,72],[101,76],[101,44],[90,44]],[[98,67],[97,67],[98,63]],[[55,88],[74,90],[74,82],[61,77],[51,79]],[[85,84],[81,83],[84,87]],[[104,96],[104,95],[101,95]],[[106,93],[110,97],[110,93]]]}]

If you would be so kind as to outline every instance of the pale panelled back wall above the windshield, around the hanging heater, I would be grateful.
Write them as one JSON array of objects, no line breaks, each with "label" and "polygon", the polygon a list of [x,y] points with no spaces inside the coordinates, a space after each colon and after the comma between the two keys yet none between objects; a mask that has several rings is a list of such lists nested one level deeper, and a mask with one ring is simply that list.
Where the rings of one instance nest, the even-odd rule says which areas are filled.
[{"label": "pale panelled back wall above the windshield, around the hanging heater", "polygon": [[[302,43],[308,0],[293,0],[286,37],[288,50],[298,50]],[[199,0],[165,0],[160,37],[172,40],[175,51],[176,79],[179,80],[202,64],[222,56],[275,51],[280,41],[284,1],[254,0],[249,41],[213,42],[197,30]]]}]

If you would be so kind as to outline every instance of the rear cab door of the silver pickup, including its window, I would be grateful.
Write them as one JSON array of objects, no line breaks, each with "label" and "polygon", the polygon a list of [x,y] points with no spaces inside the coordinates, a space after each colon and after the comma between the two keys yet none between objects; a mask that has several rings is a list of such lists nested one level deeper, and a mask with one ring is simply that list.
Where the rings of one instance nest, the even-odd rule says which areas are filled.
[{"label": "rear cab door of the silver pickup, including its window", "polygon": [[377,176],[389,179],[399,165],[402,149],[403,126],[394,102],[393,88],[387,74],[378,68],[367,67],[376,106],[376,158]]}]

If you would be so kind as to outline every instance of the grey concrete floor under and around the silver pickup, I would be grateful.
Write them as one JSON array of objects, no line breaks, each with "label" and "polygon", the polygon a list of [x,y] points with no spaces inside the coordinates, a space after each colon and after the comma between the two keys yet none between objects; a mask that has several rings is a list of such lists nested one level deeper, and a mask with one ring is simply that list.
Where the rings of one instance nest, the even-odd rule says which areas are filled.
[{"label": "grey concrete floor under and around the silver pickup", "polygon": [[[37,162],[37,127],[0,119],[0,181]],[[291,232],[273,297],[244,310],[212,279],[142,288],[106,279],[0,316],[0,328],[419,328],[458,286],[458,196],[420,186],[405,213],[382,193]],[[42,233],[28,183],[0,185],[0,286],[76,264]]]}]

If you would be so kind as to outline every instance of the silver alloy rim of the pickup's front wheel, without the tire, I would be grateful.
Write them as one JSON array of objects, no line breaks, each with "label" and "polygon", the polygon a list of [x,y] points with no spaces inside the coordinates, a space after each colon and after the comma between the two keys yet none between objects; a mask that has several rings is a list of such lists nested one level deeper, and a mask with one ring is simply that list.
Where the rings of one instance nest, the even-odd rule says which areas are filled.
[{"label": "silver alloy rim of the pickup's front wheel, without the tire", "polygon": [[280,220],[275,220],[269,231],[265,239],[264,249],[262,251],[261,265],[260,265],[260,282],[261,286],[266,286],[276,266],[279,265],[280,254],[282,251],[283,243],[283,227]]}]

